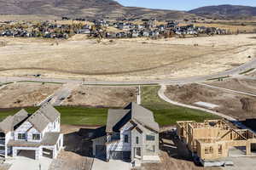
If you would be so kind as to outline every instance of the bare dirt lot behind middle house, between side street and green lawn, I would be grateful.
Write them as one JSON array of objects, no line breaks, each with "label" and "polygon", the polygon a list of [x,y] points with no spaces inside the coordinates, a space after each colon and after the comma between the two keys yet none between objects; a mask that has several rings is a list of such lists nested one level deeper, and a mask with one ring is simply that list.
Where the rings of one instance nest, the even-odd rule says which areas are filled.
[{"label": "bare dirt lot behind middle house, between side street and green lawn", "polygon": [[62,105],[122,107],[137,99],[137,87],[84,86],[75,88]]}]

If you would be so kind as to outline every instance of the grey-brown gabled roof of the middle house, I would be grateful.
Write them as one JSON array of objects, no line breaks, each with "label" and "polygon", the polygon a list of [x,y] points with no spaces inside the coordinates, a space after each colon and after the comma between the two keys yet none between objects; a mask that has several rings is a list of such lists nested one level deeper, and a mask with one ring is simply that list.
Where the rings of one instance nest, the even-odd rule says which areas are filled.
[{"label": "grey-brown gabled roof of the middle house", "polygon": [[113,131],[118,131],[126,122],[131,120],[140,123],[144,127],[151,128],[154,131],[160,131],[159,124],[154,122],[153,112],[132,102],[126,105],[123,110],[108,110],[106,132],[112,133]]}]

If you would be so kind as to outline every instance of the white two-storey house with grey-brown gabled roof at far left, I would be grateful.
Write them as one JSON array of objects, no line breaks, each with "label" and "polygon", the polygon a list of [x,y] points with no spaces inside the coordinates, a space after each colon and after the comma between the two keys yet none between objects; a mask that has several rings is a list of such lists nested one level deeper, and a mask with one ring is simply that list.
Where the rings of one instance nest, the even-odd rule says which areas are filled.
[{"label": "white two-storey house with grey-brown gabled roof at far left", "polygon": [[0,122],[0,154],[5,158],[30,153],[35,160],[55,158],[63,145],[60,113],[44,105],[33,114],[21,110]]}]

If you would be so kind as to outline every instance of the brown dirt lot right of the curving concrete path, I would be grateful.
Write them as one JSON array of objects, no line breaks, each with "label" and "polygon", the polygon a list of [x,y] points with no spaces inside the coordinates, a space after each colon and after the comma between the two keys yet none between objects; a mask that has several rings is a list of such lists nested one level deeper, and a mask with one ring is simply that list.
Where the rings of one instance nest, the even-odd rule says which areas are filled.
[{"label": "brown dirt lot right of the curving concrete path", "polygon": [[[226,83],[229,88],[242,89],[241,84],[236,84],[236,80],[229,80]],[[241,87],[240,87],[241,86]],[[246,86],[247,90],[249,86]],[[250,89],[250,90],[253,90]],[[173,100],[181,103],[195,105],[195,102],[207,102],[218,105],[212,111],[219,111],[235,118],[255,117],[256,98],[243,95],[225,92],[215,88],[207,88],[198,84],[188,84],[183,86],[169,86],[166,90],[166,95]]]}]

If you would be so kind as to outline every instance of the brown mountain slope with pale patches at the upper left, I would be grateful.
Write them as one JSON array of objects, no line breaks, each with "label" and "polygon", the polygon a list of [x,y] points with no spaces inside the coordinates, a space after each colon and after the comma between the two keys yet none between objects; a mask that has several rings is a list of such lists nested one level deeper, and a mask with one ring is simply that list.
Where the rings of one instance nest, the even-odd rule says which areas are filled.
[{"label": "brown mountain slope with pale patches at the upper left", "polygon": [[0,14],[45,14],[86,18],[156,18],[179,20],[195,17],[182,11],[125,7],[113,0],[0,0]]}]

